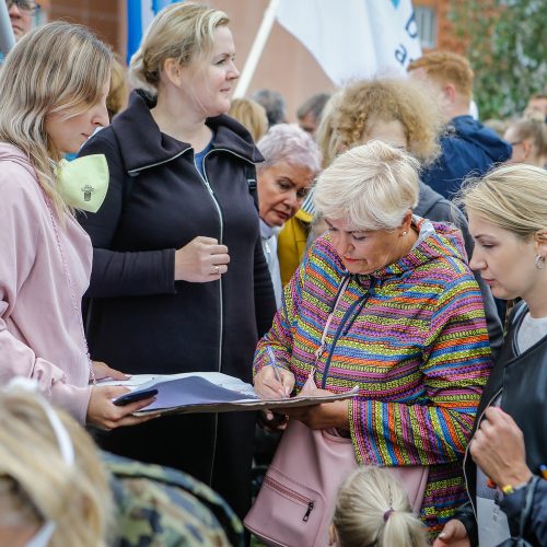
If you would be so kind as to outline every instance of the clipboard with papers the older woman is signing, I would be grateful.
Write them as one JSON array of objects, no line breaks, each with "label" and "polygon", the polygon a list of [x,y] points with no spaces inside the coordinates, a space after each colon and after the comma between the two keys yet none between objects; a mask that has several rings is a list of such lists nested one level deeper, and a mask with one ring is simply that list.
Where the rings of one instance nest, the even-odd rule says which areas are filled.
[{"label": "clipboard with papers the older woman is signing", "polygon": [[[150,376],[146,376],[149,379]],[[130,383],[133,383],[132,386]],[[359,386],[353,389],[333,395],[296,396],[287,399],[261,399],[251,384],[221,373],[196,373],[160,375],[144,383],[139,383],[139,376],[128,382],[108,382],[115,385],[133,387],[131,393],[138,395],[141,391],[158,389],[156,399],[142,408],[135,416],[150,414],[174,415],[195,412],[234,412],[275,408],[303,407],[333,403],[353,397]]]}]

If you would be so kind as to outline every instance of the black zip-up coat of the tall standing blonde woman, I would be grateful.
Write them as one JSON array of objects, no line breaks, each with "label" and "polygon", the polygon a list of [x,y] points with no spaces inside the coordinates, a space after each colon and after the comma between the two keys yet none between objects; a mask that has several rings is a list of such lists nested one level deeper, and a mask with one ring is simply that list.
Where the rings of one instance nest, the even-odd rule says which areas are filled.
[{"label": "black zip-up coat of the tall standing blonde woman", "polygon": [[[191,147],[160,132],[152,106],[143,93],[131,93],[128,108],[80,154],[105,154],[110,173],[100,211],[79,217],[94,247],[86,294],[92,358],[128,373],[219,371],[251,382],[256,341],[276,311],[245,173],[263,158],[242,125],[225,115],[210,118],[203,178]],[[228,246],[228,274],[221,281],[175,282],[175,251],[198,235]],[[115,431],[103,445],[186,470],[229,498],[225,489],[246,485],[224,489],[216,477],[246,480],[235,467],[251,468],[253,419],[219,417],[223,429],[216,416],[162,418]],[[243,511],[233,496],[229,502]]]}]

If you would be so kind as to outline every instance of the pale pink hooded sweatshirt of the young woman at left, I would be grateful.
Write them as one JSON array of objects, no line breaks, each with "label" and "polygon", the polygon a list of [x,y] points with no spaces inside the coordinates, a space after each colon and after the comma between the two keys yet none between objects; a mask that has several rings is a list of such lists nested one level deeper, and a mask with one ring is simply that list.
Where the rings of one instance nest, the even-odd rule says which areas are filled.
[{"label": "pale pink hooded sweatshirt of the young woman at left", "polygon": [[92,247],[72,217],[61,223],[36,172],[0,142],[0,385],[36,380],[40,392],[85,422],[90,362],[80,302]]}]

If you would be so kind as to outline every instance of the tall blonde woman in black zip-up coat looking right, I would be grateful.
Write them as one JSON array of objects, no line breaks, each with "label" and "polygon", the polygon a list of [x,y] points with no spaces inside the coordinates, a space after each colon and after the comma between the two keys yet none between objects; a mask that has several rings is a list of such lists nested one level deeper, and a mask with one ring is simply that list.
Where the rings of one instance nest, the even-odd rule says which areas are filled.
[{"label": "tall blonde woman in black zip-up coat looking right", "polygon": [[[249,382],[275,300],[249,193],[263,161],[224,115],[238,77],[224,13],[191,3],[152,22],[128,108],[82,154],[103,153],[110,185],[81,216],[94,259],[88,336],[94,359],[128,373],[223,372]],[[103,447],[183,469],[243,516],[254,414],[165,417]]]}]

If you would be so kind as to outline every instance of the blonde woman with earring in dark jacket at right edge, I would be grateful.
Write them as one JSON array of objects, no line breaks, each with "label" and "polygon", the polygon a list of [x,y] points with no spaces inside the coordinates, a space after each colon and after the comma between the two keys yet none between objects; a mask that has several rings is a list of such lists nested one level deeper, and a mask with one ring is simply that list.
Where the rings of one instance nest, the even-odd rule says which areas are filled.
[{"label": "blonde woman with earring in dark jacket at right edge", "polygon": [[[511,315],[503,348],[477,410],[476,433],[464,469],[470,503],[449,521],[435,547],[498,546],[510,536],[517,536],[520,515],[515,514],[514,501],[524,500],[528,490],[533,493],[537,486],[533,475],[540,476],[542,466],[547,463],[545,188],[547,171],[519,164],[496,168],[481,181],[470,183],[463,194],[475,240],[469,266],[480,272],[494,296],[503,300],[520,296],[522,302]],[[488,462],[494,457],[493,444],[487,455],[481,450],[485,433],[491,435],[497,419],[504,416],[491,407],[500,407],[522,430],[526,462],[513,465],[510,474],[497,473],[493,463]],[[492,479],[503,482],[496,484]],[[545,529],[537,526],[542,520],[538,512],[543,510],[538,503],[529,514],[531,520],[523,522],[524,537],[535,546],[545,545]]]}]

